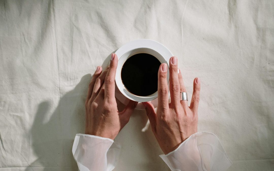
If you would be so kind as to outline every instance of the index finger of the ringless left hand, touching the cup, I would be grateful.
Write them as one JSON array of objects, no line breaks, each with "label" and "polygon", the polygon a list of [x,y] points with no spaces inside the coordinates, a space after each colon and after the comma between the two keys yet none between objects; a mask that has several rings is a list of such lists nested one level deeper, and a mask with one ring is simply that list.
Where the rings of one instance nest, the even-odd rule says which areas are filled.
[{"label": "index finger of the ringless left hand, touching the cup", "polygon": [[115,53],[111,54],[109,71],[105,76],[105,100],[115,100],[115,74],[118,65],[118,58]]}]

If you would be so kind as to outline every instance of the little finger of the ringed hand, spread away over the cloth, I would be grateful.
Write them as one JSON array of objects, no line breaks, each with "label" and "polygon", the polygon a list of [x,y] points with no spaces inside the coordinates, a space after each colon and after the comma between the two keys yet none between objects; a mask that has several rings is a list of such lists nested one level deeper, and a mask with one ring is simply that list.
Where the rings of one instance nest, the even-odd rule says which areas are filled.
[{"label": "little finger of the ringed hand, spread away over the cloth", "polygon": [[192,109],[195,113],[198,112],[198,105],[200,100],[200,89],[201,89],[200,79],[195,78],[193,81],[193,94],[190,102],[190,109]]}]

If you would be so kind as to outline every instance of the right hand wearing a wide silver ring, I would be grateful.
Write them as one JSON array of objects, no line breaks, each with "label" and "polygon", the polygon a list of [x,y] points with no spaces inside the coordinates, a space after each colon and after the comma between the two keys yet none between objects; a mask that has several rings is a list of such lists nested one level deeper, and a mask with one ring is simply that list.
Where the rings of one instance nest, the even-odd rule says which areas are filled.
[{"label": "right hand wearing a wide silver ring", "polygon": [[167,85],[167,64],[158,71],[158,110],[150,102],[144,102],[152,132],[165,154],[175,150],[185,139],[197,132],[200,80],[193,82],[190,107],[186,100],[180,101],[180,92],[186,92],[181,71],[178,74],[178,59],[170,58],[170,98]]}]

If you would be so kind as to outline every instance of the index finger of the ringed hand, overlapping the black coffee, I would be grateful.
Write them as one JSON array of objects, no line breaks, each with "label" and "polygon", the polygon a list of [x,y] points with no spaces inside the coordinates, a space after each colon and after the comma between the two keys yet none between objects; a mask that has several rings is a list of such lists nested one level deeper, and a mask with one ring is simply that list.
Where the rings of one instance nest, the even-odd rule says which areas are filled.
[{"label": "index finger of the ringed hand, overlapping the black coffee", "polygon": [[[162,63],[158,70],[158,108],[169,109],[169,88],[167,85],[167,64]],[[166,112],[163,112],[166,113]]]}]

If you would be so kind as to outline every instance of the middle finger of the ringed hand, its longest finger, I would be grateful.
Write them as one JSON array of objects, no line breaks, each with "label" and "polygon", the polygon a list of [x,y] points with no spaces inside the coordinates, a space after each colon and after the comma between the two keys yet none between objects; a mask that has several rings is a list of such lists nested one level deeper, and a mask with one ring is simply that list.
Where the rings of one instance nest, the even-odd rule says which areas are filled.
[{"label": "middle finger of the ringed hand, its longest finger", "polygon": [[173,107],[178,107],[180,104],[180,84],[178,79],[178,59],[173,56],[169,60],[169,91],[170,91],[170,99],[171,105]]}]

